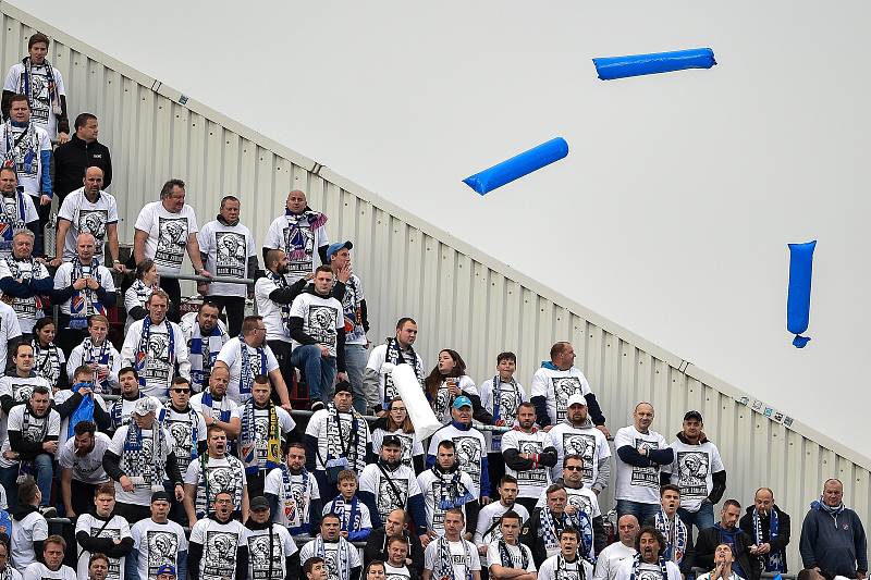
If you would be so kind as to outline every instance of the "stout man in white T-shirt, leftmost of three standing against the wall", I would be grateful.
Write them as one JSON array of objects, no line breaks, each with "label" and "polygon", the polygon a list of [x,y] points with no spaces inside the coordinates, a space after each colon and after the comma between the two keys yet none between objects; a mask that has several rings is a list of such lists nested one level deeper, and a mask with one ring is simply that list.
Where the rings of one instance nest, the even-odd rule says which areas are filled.
[{"label": "stout man in white T-shirt, leftmost of three standing against the wall", "polygon": [[182,180],[170,180],[160,189],[160,201],[146,203],[136,218],[133,237],[133,258],[135,266],[145,258],[155,260],[160,274],[160,287],[170,296],[173,310],[168,318],[179,322],[179,304],[182,300],[182,288],[179,280],[165,274],[177,274],[182,271],[185,250],[197,275],[211,277],[211,273],[203,267],[199,242],[197,242],[197,217],[194,208],[184,202],[185,185]]}]

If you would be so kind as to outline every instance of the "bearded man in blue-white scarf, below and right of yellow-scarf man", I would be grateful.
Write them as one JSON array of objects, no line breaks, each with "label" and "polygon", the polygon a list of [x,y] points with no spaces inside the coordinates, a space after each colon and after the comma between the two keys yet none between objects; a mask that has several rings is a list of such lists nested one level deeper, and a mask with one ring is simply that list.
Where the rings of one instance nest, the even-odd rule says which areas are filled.
[{"label": "bearded man in blue-white scarf, below and right of yellow-scarf man", "polygon": [[306,448],[291,443],[286,462],[266,477],[265,496],[273,521],[293,535],[307,535],[320,525],[321,501],[315,477],[306,469]]}]

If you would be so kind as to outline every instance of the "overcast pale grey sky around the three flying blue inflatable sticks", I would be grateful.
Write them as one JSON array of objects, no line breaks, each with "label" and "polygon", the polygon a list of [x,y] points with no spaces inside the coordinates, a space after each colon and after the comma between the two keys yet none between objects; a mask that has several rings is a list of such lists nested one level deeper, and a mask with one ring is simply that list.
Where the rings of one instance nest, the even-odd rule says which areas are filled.
[{"label": "overcast pale grey sky around the three flying blue inflatable sticks", "polygon": [[[859,447],[871,4],[13,3]],[[704,46],[710,71],[590,62]],[[544,171],[461,183],[557,135]],[[797,350],[786,244],[812,238]]]}]

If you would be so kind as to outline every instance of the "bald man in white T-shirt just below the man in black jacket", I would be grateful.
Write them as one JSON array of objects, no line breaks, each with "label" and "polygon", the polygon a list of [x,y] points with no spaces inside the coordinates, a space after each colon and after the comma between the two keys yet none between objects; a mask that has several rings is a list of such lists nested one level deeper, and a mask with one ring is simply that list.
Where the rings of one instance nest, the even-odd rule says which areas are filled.
[{"label": "bald man in white T-shirt just below the man in black jacket", "polygon": [[102,169],[86,169],[84,186],[63,200],[58,211],[57,248],[51,266],[57,268],[74,259],[78,234],[88,233],[96,239],[94,256],[97,261],[103,263],[108,243],[112,269],[124,271],[118,259],[118,202],[112,194],[102,190]]}]

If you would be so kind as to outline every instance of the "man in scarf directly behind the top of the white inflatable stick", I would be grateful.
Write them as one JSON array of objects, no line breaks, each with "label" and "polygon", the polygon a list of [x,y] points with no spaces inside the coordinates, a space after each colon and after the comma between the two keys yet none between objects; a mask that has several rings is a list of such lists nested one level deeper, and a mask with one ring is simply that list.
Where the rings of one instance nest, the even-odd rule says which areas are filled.
[{"label": "man in scarf directly behind the top of the white inflatable stick", "polygon": [[384,344],[372,348],[369,362],[363,371],[364,391],[377,393],[379,403],[375,411],[379,415],[387,414],[388,404],[398,395],[393,386],[393,379],[389,372],[382,372],[384,362],[391,365],[408,365],[415,371],[417,382],[424,387],[424,359],[415,353],[412,345],[417,338],[417,322],[408,317],[403,317],[396,322],[396,336],[388,338]]}]

